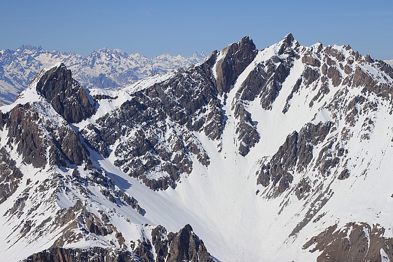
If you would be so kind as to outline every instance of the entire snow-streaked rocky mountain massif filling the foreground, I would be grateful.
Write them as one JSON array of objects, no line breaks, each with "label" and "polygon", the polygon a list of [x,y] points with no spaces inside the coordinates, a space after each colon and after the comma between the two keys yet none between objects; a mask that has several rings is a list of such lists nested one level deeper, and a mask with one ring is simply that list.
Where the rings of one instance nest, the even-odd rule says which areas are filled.
[{"label": "entire snow-streaked rocky mountain massif filling the foreground", "polygon": [[0,107],[2,258],[393,261],[393,67],[249,37],[127,87],[64,63]]}]

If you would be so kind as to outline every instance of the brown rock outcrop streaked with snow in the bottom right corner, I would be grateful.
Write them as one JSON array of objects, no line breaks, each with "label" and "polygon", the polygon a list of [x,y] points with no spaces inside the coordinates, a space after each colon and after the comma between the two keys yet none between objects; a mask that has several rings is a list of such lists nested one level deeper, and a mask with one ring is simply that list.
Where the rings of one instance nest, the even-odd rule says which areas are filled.
[{"label": "brown rock outcrop streaked with snow in the bottom right corner", "polygon": [[[348,232],[350,231],[349,235]],[[303,249],[322,251],[317,262],[331,261],[381,261],[380,250],[383,249],[393,259],[393,238],[384,237],[385,228],[379,224],[372,228],[367,223],[348,223],[344,228],[337,230],[337,226],[331,226],[317,236],[312,237]],[[387,261],[386,260],[386,261]]]}]

